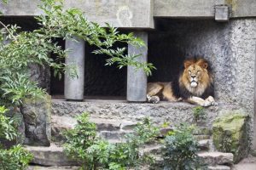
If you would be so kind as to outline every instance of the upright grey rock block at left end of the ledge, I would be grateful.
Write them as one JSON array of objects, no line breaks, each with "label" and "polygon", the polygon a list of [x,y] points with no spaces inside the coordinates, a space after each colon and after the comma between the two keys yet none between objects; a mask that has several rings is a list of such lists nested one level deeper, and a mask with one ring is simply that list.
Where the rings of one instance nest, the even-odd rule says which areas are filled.
[{"label": "upright grey rock block at left end of the ledge", "polygon": [[21,106],[24,116],[26,139],[25,144],[49,146],[51,98],[45,95],[38,99],[26,99]]}]

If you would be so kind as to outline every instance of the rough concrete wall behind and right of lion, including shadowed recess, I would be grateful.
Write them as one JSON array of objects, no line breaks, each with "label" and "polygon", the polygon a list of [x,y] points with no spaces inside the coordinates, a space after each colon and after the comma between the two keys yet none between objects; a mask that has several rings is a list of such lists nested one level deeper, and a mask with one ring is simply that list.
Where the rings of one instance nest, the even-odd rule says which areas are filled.
[{"label": "rough concrete wall behind and right of lion, including shadowed recess", "polygon": [[[157,31],[149,34],[148,60],[158,70],[148,78],[150,82],[170,81],[184,57],[202,56],[212,63],[218,103],[239,105],[253,122],[255,19],[233,19],[229,23],[160,19],[155,20],[155,27]],[[253,144],[256,146],[256,141]]]}]

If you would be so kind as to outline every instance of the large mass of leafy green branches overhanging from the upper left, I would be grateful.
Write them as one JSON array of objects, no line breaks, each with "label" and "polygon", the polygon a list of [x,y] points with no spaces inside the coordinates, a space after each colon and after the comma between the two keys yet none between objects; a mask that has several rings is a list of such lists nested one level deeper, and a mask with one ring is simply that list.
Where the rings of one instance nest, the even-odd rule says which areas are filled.
[{"label": "large mass of leafy green branches overhanging from the upper left", "polygon": [[[44,15],[36,17],[40,25],[37,30],[20,31],[19,26],[6,26],[0,21],[0,104],[20,105],[25,98],[45,94],[36,82],[30,80],[29,65],[49,65],[58,77],[67,71],[72,77],[77,76],[72,69],[74,65],[61,63],[69,50],[61,49],[53,41],[55,38],[76,41],[74,37],[79,37],[96,46],[95,54],[109,56],[106,65],[117,64],[119,68],[132,65],[151,74],[154,66],[138,62],[136,58],[140,54],[126,55],[125,48],[113,48],[117,42],[144,47],[144,42],[132,33],[121,34],[108,24],[103,28],[90,22],[78,8],[64,9],[61,0],[43,0],[42,3],[40,8]],[[50,54],[55,54],[56,59],[51,59]]]}]

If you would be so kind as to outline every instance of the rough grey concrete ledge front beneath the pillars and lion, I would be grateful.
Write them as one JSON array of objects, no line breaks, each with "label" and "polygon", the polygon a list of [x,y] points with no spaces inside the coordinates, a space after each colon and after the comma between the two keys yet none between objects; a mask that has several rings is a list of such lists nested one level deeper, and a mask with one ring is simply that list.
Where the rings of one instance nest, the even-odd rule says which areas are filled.
[{"label": "rough grey concrete ledge front beneath the pillars and lion", "polygon": [[[170,122],[171,125],[180,122],[194,122],[193,108],[196,105],[187,103],[160,102],[160,104],[135,104],[99,100],[99,102],[69,102],[54,99],[52,102],[53,115],[77,116],[84,111],[90,112],[91,118],[117,119],[137,122],[149,116],[155,123]],[[236,110],[238,106],[219,105],[206,108],[206,118],[200,123],[202,126],[212,127],[212,122],[222,110]]]}]

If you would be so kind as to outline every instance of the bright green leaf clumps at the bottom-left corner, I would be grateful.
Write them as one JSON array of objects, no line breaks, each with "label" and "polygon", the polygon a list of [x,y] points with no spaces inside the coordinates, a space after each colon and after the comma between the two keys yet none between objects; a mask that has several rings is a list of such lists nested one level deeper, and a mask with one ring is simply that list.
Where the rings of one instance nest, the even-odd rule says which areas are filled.
[{"label": "bright green leaf clumps at the bottom-left corner", "polygon": [[[17,133],[14,127],[14,121],[4,116],[7,110],[0,107],[0,138],[12,140],[15,139]],[[26,169],[29,161],[32,160],[32,155],[21,147],[20,144],[12,147],[9,150],[3,149],[0,141],[0,169],[3,170],[23,170]]]}]

